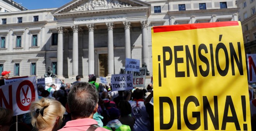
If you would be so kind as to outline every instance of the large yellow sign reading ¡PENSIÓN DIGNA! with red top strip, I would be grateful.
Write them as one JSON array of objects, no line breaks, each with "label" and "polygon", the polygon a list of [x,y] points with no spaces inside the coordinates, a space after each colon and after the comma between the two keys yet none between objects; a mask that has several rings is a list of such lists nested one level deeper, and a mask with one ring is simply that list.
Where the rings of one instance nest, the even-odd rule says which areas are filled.
[{"label": "large yellow sign reading \u00a1PENSI\u00d3N DIGNA! with red top strip", "polygon": [[240,22],[151,31],[154,130],[251,131]]}]

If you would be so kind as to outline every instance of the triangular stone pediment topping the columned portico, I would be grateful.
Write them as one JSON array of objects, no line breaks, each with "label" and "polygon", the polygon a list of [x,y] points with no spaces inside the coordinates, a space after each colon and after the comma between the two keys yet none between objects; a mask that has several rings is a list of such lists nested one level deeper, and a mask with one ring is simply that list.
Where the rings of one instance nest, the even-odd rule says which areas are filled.
[{"label": "triangular stone pediment topping the columned portico", "polygon": [[93,10],[111,10],[115,8],[133,8],[150,6],[140,0],[73,0],[66,5],[54,10],[53,14],[67,12],[86,12]]}]

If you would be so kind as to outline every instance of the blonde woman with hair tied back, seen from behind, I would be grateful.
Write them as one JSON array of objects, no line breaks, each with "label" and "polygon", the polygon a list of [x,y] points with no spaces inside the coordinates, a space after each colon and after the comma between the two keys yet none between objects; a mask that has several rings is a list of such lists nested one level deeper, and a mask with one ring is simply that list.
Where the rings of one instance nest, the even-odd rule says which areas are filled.
[{"label": "blonde woman with hair tied back, seen from behind", "polygon": [[66,109],[59,101],[42,98],[31,103],[30,111],[31,124],[38,131],[57,131],[62,124]]}]

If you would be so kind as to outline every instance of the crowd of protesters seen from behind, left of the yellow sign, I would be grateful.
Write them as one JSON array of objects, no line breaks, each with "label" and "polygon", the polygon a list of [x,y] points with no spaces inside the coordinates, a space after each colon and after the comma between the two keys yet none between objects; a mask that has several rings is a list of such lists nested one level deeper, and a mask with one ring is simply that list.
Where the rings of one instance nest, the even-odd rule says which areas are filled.
[{"label": "crowd of protesters seen from behind, left of the yellow sign", "polygon": [[0,107],[0,131],[153,131],[152,84],[147,89],[112,91],[93,76],[72,84],[38,86],[38,100],[31,102],[30,113],[12,117]]}]

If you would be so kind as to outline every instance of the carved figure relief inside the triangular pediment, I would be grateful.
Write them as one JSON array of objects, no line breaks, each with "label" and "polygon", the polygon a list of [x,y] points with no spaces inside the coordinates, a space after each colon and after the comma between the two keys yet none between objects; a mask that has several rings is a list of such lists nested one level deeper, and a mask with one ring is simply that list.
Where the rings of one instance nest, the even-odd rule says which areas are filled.
[{"label": "carved figure relief inside the triangular pediment", "polygon": [[128,3],[120,2],[118,0],[89,0],[84,4],[73,8],[69,12],[125,7],[131,7],[131,5]]}]

